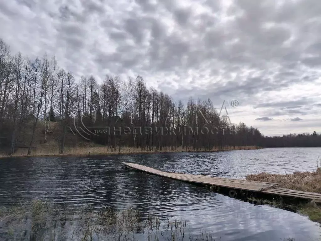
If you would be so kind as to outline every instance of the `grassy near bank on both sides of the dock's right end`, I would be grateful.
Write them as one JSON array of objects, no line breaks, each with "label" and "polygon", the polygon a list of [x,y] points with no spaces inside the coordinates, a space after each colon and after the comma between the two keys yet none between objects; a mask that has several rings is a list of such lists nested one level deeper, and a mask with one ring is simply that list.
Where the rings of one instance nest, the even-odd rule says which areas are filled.
[{"label": "grassy near bank on both sides of the dock's right end", "polygon": [[[246,180],[278,183],[283,188],[321,193],[321,168],[317,168],[315,172],[295,172],[293,174],[269,174],[264,172],[249,175]],[[321,206],[319,203],[314,201],[301,203],[297,206],[297,209],[312,221],[321,223]]]}]

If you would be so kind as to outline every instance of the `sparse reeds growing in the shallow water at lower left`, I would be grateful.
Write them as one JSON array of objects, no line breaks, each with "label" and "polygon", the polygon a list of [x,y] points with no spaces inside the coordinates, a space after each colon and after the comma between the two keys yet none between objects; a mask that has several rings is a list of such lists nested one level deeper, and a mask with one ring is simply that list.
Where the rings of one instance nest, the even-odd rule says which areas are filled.
[{"label": "sparse reeds growing in the shallow water at lower left", "polygon": [[[161,218],[140,210],[66,207],[33,200],[0,207],[0,239],[104,241],[215,241],[215,230],[191,232],[184,219]],[[1,239],[2,240],[2,239]],[[224,239],[226,240],[226,239]],[[294,238],[283,240],[293,241]]]}]

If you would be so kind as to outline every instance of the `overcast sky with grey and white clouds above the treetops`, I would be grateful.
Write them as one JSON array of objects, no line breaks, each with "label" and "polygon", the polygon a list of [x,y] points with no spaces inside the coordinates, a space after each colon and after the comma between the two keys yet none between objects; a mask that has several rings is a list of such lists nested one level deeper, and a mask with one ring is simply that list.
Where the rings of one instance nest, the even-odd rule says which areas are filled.
[{"label": "overcast sky with grey and white clouds above the treetops", "polygon": [[265,135],[321,132],[320,0],[7,0],[0,22],[12,53],[76,78],[140,74]]}]

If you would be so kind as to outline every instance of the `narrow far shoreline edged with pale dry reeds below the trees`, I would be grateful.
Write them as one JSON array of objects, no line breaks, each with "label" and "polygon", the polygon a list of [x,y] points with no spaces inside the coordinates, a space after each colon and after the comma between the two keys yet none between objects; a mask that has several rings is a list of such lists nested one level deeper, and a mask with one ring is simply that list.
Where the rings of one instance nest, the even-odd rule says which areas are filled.
[{"label": "narrow far shoreline edged with pale dry reeds below the trees", "polygon": [[[21,149],[21,148],[20,148]],[[107,150],[106,150],[107,149]],[[163,148],[162,150],[142,150],[141,148],[133,147],[123,147],[120,151],[119,147],[116,147],[116,151],[111,151],[109,147],[69,147],[64,154],[59,154],[59,152],[50,152],[46,153],[46,150],[40,150],[39,153],[32,153],[31,155],[26,155],[21,150],[17,151],[17,154],[14,155],[0,155],[0,159],[6,158],[23,158],[23,157],[63,157],[63,156],[111,156],[111,155],[137,155],[137,154],[161,154],[161,153],[183,153],[183,152],[219,152],[219,151],[237,151],[237,150],[260,150],[264,147],[259,146],[235,146],[235,147],[225,147],[225,148],[212,148],[211,150],[206,150],[205,148],[200,148],[197,150],[191,150],[191,148],[175,148],[171,147]],[[26,151],[25,151],[26,152]]]}]

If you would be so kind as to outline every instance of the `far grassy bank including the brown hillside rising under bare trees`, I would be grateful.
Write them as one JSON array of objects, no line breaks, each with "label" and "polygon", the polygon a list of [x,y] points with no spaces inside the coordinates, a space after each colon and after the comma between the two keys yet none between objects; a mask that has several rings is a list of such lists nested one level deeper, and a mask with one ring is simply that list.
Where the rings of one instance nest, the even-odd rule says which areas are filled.
[{"label": "far grassy bank including the brown hillside rising under bare trees", "polygon": [[[26,128],[21,131],[19,141],[17,141],[17,149],[12,156],[26,156],[30,145],[32,135],[32,123],[28,123]],[[151,148],[134,148],[127,146],[117,146],[109,148],[108,146],[99,145],[93,141],[87,141],[79,135],[74,135],[68,131],[65,140],[64,154],[59,153],[59,132],[60,127],[58,122],[50,122],[50,127],[47,135],[47,142],[44,142],[44,123],[39,121],[35,130],[35,135],[31,148],[30,156],[91,156],[91,155],[111,155],[111,154],[143,154],[143,153],[163,153],[163,152],[200,152],[200,151],[224,151],[224,150],[249,150],[260,149],[257,146],[225,146],[223,148],[213,147],[211,150],[206,148],[198,148],[193,150],[193,147],[151,147]],[[0,158],[8,157],[9,150],[0,149]]]}]

